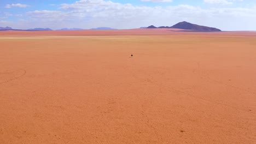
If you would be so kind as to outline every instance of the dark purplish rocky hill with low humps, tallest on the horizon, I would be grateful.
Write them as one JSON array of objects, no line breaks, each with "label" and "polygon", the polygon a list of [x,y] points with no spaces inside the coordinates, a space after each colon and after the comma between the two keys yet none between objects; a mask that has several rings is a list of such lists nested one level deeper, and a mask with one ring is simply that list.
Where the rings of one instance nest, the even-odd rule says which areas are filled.
[{"label": "dark purplish rocky hill with low humps, tallest on the horizon", "polygon": [[195,25],[193,23],[189,23],[186,21],[179,22],[176,25],[173,25],[171,27],[168,27],[168,26],[155,27],[152,25],[147,28],[179,28],[179,29],[193,30],[193,31],[197,31],[197,32],[221,32],[221,30],[218,28],[199,26],[199,25]]}]

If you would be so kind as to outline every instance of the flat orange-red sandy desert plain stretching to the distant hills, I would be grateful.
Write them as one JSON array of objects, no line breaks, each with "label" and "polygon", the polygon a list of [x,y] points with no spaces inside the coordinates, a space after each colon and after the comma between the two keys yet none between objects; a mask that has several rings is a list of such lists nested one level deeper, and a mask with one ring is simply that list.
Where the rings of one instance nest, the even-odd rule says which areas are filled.
[{"label": "flat orange-red sandy desert plain stretching to the distant hills", "polygon": [[256,143],[256,32],[0,32],[0,46],[0,143]]}]

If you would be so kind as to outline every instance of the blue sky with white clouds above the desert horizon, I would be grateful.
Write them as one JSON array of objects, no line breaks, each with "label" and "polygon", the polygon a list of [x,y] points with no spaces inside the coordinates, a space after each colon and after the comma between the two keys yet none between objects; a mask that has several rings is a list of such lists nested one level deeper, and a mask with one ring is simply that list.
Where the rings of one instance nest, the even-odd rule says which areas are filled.
[{"label": "blue sky with white clouds above the desert horizon", "polygon": [[256,31],[255,0],[0,0],[0,27],[130,29],[187,21]]}]

